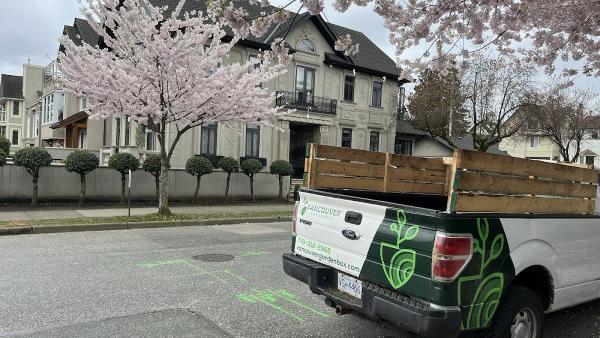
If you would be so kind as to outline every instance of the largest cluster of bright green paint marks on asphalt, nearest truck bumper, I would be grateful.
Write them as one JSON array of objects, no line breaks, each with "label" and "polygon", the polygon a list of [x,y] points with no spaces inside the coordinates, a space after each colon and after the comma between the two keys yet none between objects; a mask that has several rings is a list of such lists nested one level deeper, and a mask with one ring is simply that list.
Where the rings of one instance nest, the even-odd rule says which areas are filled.
[{"label": "largest cluster of bright green paint marks on asphalt, nearest truck bumper", "polygon": [[286,314],[298,321],[304,321],[304,318],[300,314],[295,313],[293,310],[286,308],[282,303],[291,304],[293,306],[296,306],[297,308],[310,311],[311,313],[323,318],[329,317],[328,313],[319,311],[306,304],[303,304],[298,300],[298,296],[286,290],[271,291],[268,289],[251,289],[251,292],[239,294],[237,295],[237,298],[243,302],[250,304],[261,302],[262,304],[265,304],[270,308],[275,309],[283,314]]}]

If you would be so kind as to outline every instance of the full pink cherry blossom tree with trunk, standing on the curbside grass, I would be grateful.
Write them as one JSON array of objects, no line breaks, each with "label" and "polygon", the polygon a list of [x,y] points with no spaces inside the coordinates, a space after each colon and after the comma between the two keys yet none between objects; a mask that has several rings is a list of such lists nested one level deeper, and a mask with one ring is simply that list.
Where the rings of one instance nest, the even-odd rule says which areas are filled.
[{"label": "full pink cherry blossom tree with trunk, standing on the curbside grass", "polygon": [[182,135],[214,122],[267,123],[279,107],[261,84],[286,68],[282,44],[276,46],[279,59],[266,51],[259,61],[230,62],[229,52],[247,32],[227,36],[221,20],[184,13],[185,3],[158,8],[146,0],[87,0],[82,14],[100,36],[99,46],[60,40],[60,84],[90,99],[91,118],[130,116],[156,132],[160,213],[170,212],[168,171]]}]

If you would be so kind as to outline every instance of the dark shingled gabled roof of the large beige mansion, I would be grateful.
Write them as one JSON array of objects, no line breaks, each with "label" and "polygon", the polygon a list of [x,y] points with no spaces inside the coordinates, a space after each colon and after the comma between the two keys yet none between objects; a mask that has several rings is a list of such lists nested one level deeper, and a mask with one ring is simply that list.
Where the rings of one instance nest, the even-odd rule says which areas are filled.
[{"label": "dark shingled gabled roof of the large beige mansion", "polygon": [[[149,0],[150,3],[158,7],[166,7],[165,15],[169,15],[169,10],[175,8],[177,0]],[[242,6],[251,17],[261,14],[261,12],[271,12],[275,7],[261,7],[260,5],[250,5],[249,1],[238,1],[236,6]],[[191,11],[206,11],[206,1],[186,1],[183,5],[182,12]],[[358,43],[358,53],[351,56],[345,56],[342,52],[326,53],[325,64],[342,67],[346,69],[356,69],[360,72],[374,74],[376,76],[386,76],[389,79],[397,80],[400,76],[400,68],[396,67],[396,63],[387,54],[385,54],[373,41],[361,32],[342,27],[339,25],[325,22],[320,15],[310,15],[308,12],[298,14],[289,12],[289,19],[280,24],[271,25],[269,31],[261,37],[248,36],[240,44],[253,48],[269,49],[271,43],[277,38],[283,38],[289,30],[290,25],[300,24],[305,21],[312,21],[319,29],[325,40],[334,49],[335,41],[339,36],[350,34],[353,43]],[[227,32],[232,35],[231,31]],[[83,19],[75,19],[73,26],[65,26],[63,34],[68,35],[73,41],[81,43],[81,40],[87,44],[95,46],[98,44],[98,34],[94,32],[92,27]],[[61,48],[62,50],[62,48]]]}]

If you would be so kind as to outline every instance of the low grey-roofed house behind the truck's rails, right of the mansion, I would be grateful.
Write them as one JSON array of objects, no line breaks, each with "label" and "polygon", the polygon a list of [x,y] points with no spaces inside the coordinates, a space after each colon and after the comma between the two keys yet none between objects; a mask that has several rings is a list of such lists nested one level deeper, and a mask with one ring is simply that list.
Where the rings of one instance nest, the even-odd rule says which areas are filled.
[{"label": "low grey-roofed house behind the truck's rails, right of the mansion", "polygon": [[[418,157],[441,158],[451,157],[455,149],[475,150],[473,138],[467,134],[462,137],[452,137],[451,145],[440,137],[433,137],[426,131],[414,128],[408,121],[398,121],[394,153]],[[491,146],[487,152],[506,155],[498,145]]]}]

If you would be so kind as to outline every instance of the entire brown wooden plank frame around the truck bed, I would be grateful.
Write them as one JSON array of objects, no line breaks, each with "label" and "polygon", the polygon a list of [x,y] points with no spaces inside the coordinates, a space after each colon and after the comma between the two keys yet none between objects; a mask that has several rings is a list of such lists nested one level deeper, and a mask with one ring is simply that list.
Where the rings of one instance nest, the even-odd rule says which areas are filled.
[{"label": "entire brown wooden plank frame around the truck bed", "polygon": [[593,214],[598,172],[468,150],[430,159],[309,144],[304,184],[447,197],[447,212]]}]

